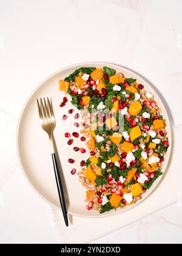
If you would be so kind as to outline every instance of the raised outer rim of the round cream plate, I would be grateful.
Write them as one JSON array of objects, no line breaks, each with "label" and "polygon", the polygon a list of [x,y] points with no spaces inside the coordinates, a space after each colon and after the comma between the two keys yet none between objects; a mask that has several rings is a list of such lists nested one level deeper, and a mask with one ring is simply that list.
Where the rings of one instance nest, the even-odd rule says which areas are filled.
[{"label": "raised outer rim of the round cream plate", "polygon": [[21,119],[22,119],[22,115],[24,113],[24,110],[25,108],[27,107],[27,104],[28,102],[30,101],[30,99],[32,98],[33,94],[35,94],[35,92],[38,90],[39,87],[41,87],[47,80],[49,80],[50,78],[52,78],[53,76],[55,76],[56,74],[62,72],[62,71],[65,71],[67,69],[70,69],[70,68],[78,68],[78,66],[80,65],[95,65],[98,64],[98,65],[115,65],[115,66],[118,66],[120,68],[124,68],[124,69],[127,69],[128,71],[132,72],[132,73],[135,73],[137,76],[140,76],[141,79],[145,80],[147,84],[149,84],[150,87],[152,87],[152,89],[155,91],[155,93],[157,94],[158,98],[160,98],[160,101],[161,101],[161,104],[166,112],[166,117],[165,119],[167,119],[167,123],[169,124],[169,126],[167,127],[168,128],[168,133],[169,133],[169,140],[170,140],[170,146],[168,148],[168,159],[167,159],[167,164],[165,166],[165,169],[164,169],[164,173],[163,173],[163,176],[159,177],[159,179],[155,182],[155,186],[153,186],[153,188],[150,188],[150,193],[142,200],[139,200],[137,201],[135,204],[131,205],[130,207],[127,207],[127,209],[123,210],[123,211],[118,211],[118,212],[113,212],[113,213],[110,213],[109,215],[98,215],[98,216],[92,216],[92,215],[82,215],[82,214],[77,214],[77,213],[73,213],[73,212],[70,212],[69,210],[67,211],[67,213],[69,215],[73,215],[73,216],[78,216],[78,217],[81,217],[81,218],[108,218],[108,217],[111,217],[111,216],[114,216],[114,215],[118,215],[118,214],[121,214],[121,213],[124,213],[124,212],[127,212],[127,210],[132,210],[133,208],[135,208],[137,205],[141,204],[142,202],[144,202],[147,197],[149,197],[153,191],[155,191],[158,186],[160,185],[161,183],[161,180],[163,180],[164,176],[166,175],[166,172],[167,172],[167,169],[169,169],[169,165],[170,165],[170,162],[171,162],[171,156],[172,156],[172,149],[174,148],[173,147],[173,132],[172,132],[172,125],[171,125],[171,121],[170,121],[170,118],[169,118],[169,113],[164,105],[164,99],[163,97],[161,97],[161,95],[158,93],[158,91],[156,91],[156,87],[155,85],[150,82],[150,80],[146,77],[146,76],[143,76],[142,74],[138,73],[138,71],[135,71],[134,69],[131,69],[131,68],[128,68],[127,66],[123,66],[123,65],[120,65],[118,63],[112,63],[112,62],[81,62],[81,63],[75,63],[73,65],[69,65],[69,66],[66,66],[65,68],[61,68],[61,69],[58,69],[57,71],[55,71],[54,73],[50,74],[50,76],[46,77],[44,80],[42,80],[36,87],[35,89],[32,91],[32,93],[30,93],[29,97],[26,99],[23,107],[22,107],[22,110],[21,110],[21,113],[19,115],[19,118],[18,118],[18,124],[17,124],[17,127],[16,127],[16,153],[18,155],[18,162],[19,162],[19,165],[21,167],[21,170],[25,176],[25,179],[27,180],[27,182],[30,184],[30,187],[33,188],[33,191],[35,191],[36,194],[38,194],[45,202],[47,202],[48,204],[52,205],[53,207],[55,207],[56,209],[60,210],[61,211],[61,208],[57,207],[55,204],[53,204],[52,202],[50,202],[48,199],[46,199],[44,196],[42,196],[41,193],[39,193],[38,190],[36,190],[36,188],[33,186],[33,184],[30,182],[29,180],[29,177],[27,176],[23,166],[22,166],[22,160],[21,160],[21,156],[19,154],[19,128],[20,128],[20,124],[21,124]]}]

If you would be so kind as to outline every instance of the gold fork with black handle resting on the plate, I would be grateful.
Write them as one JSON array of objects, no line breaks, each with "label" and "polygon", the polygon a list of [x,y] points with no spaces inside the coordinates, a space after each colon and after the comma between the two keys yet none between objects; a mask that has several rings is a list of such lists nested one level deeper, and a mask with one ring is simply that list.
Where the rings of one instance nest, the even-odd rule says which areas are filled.
[{"label": "gold fork with black handle resting on the plate", "polygon": [[61,176],[59,174],[59,169],[58,169],[58,163],[56,160],[56,154],[55,154],[55,144],[53,140],[53,130],[56,127],[56,121],[55,121],[55,115],[53,112],[53,106],[52,106],[52,100],[47,97],[47,102],[45,101],[44,98],[44,104],[42,99],[40,99],[40,103],[37,99],[37,104],[38,104],[38,111],[39,111],[39,118],[41,121],[41,126],[42,129],[47,132],[49,135],[49,142],[50,142],[50,149],[52,152],[52,160],[53,160],[53,166],[55,170],[55,177],[56,177],[56,184],[58,188],[58,194],[59,194],[59,201],[61,204],[62,208],[62,213],[64,216],[64,221],[66,226],[69,226],[68,218],[67,218],[67,210],[66,210],[66,203],[64,199],[64,192],[62,189],[62,183],[61,183]]}]

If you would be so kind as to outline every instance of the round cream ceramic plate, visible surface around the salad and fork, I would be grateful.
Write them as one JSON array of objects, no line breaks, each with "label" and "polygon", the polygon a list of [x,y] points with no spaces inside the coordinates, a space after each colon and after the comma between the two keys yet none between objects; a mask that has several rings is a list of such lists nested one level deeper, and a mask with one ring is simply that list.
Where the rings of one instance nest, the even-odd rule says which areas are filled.
[{"label": "round cream ceramic plate, visible surface around the salad and fork", "polygon": [[[154,88],[147,82],[146,79],[141,77],[139,74],[134,73],[130,69],[124,68],[123,66],[114,65],[111,63],[101,63],[101,62],[91,62],[91,63],[80,63],[73,66],[69,66],[67,68],[61,69],[52,76],[45,79],[39,86],[33,91],[30,98],[24,105],[21,116],[19,118],[18,131],[17,131],[17,149],[19,162],[21,164],[22,170],[24,171],[25,176],[29,180],[33,189],[41,196],[45,201],[49,202],[55,207],[59,207],[59,199],[58,192],[56,188],[55,176],[52,165],[52,157],[50,154],[49,148],[49,140],[47,134],[41,129],[39,123],[38,109],[36,105],[36,99],[42,98],[46,96],[51,96],[53,101],[53,107],[55,111],[56,117],[56,129],[54,132],[56,146],[58,149],[58,155],[61,162],[61,171],[62,177],[64,177],[64,191],[66,194],[66,202],[67,202],[67,210],[71,215],[84,216],[84,217],[104,217],[111,216],[117,213],[124,212],[129,210],[130,208],[135,207],[137,204],[140,204],[150,193],[157,187],[158,183],[162,179],[161,176],[157,182],[147,191],[143,199],[138,201],[135,205],[131,205],[125,207],[124,210],[117,209],[112,210],[108,213],[104,213],[100,215],[96,211],[88,211],[84,207],[84,198],[85,191],[81,186],[81,183],[78,181],[78,176],[72,176],[70,171],[72,168],[76,168],[78,171],[80,169],[79,162],[82,159],[87,159],[89,154],[81,154],[80,152],[73,151],[73,146],[84,146],[84,143],[78,139],[74,140],[72,146],[67,145],[67,140],[64,137],[65,132],[73,132],[78,130],[78,128],[73,127],[73,130],[70,129],[71,119],[67,121],[62,121],[61,116],[64,113],[67,113],[67,110],[72,108],[70,102],[64,108],[60,108],[59,104],[62,101],[62,97],[64,93],[58,90],[58,80],[64,79],[64,77],[68,76],[70,73],[75,71],[75,69],[80,68],[81,66],[110,66],[111,68],[116,69],[116,71],[120,71],[124,73],[126,77],[133,77],[138,80],[141,84],[144,85],[146,90],[149,90],[154,94],[156,101],[159,103],[162,111],[162,115],[166,119],[167,123],[167,133],[169,137],[170,147],[167,151],[165,162],[163,163],[163,172],[166,171],[167,163],[169,161],[170,148],[171,148],[171,130],[170,130],[170,122],[169,117],[167,115],[166,108],[164,104],[156,92]],[[77,110],[75,110],[77,113]],[[73,113],[73,115],[75,115]],[[68,158],[74,158],[76,160],[75,164],[68,163]],[[147,200],[150,200],[148,198]]]}]

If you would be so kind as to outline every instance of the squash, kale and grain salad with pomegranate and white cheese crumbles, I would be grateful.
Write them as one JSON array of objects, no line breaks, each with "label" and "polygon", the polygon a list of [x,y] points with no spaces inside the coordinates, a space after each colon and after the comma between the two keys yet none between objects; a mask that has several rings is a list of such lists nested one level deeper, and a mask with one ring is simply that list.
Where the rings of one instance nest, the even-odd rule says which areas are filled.
[{"label": "squash, kale and grain salad with pomegranate and white cheese crumbles", "polygon": [[81,110],[81,135],[90,154],[78,172],[86,209],[104,213],[135,204],[163,174],[169,147],[153,94],[107,66],[76,69],[59,80],[59,90]]}]

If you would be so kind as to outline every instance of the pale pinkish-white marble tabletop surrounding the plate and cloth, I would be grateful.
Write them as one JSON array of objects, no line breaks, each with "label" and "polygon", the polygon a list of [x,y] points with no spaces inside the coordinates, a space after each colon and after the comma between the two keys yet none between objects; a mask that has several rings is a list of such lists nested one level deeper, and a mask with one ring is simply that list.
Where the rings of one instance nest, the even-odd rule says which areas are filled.
[{"label": "pale pinkish-white marble tabletop surrounding the plate and cloth", "polygon": [[[0,243],[76,241],[29,186],[16,155],[22,106],[54,71],[87,61],[128,66],[157,86],[174,130],[181,127],[181,7],[181,0],[0,0]],[[98,232],[94,243],[181,243],[181,197],[107,236]]]}]

